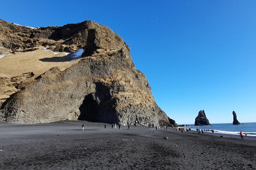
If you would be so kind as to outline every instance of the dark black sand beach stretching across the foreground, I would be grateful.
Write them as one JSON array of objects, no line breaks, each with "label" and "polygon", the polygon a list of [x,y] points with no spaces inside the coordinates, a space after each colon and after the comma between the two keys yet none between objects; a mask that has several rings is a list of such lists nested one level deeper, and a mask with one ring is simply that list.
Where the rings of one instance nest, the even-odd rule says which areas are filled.
[{"label": "dark black sand beach stretching across the foreground", "polygon": [[253,137],[104,124],[0,123],[0,169],[256,169]]}]

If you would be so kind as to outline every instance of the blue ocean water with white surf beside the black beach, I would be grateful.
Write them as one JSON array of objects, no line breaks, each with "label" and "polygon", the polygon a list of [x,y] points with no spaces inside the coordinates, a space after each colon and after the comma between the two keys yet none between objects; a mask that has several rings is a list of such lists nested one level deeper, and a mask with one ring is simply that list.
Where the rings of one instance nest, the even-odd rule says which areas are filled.
[{"label": "blue ocean water with white surf beside the black beach", "polygon": [[191,130],[196,129],[209,129],[214,130],[214,133],[223,133],[223,134],[236,134],[239,135],[240,131],[248,136],[256,137],[256,122],[255,123],[241,123],[239,125],[233,125],[232,123],[220,123],[212,124],[209,126],[195,126],[194,124],[188,124],[188,127]]}]

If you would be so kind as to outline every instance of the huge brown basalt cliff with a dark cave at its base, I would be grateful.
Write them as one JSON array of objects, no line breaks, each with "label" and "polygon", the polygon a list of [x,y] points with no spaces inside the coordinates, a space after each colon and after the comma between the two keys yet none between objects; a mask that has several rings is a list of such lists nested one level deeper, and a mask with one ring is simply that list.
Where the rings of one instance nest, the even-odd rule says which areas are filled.
[{"label": "huge brown basalt cliff with a dark cave at its base", "polygon": [[3,121],[176,125],[157,106],[129,46],[104,25],[29,28],[0,20],[0,55]]}]

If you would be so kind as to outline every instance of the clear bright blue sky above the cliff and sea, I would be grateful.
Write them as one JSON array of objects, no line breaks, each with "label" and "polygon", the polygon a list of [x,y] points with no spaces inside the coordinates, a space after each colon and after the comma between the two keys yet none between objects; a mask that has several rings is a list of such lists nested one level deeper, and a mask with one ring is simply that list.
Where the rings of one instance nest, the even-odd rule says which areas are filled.
[{"label": "clear bright blue sky above the cliff and sea", "polygon": [[256,122],[256,1],[1,1],[29,27],[92,20],[131,48],[159,107],[178,124]]}]

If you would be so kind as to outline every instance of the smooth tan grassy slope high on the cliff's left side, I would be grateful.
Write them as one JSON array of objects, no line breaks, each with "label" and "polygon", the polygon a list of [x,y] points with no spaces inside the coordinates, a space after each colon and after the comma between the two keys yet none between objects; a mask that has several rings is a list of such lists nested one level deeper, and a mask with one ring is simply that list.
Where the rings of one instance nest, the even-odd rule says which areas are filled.
[{"label": "smooth tan grassy slope high on the cliff's left side", "polygon": [[[10,97],[19,91],[15,88],[21,82],[33,81],[36,77],[43,74],[52,67],[58,66],[60,70],[65,70],[78,60],[66,58],[65,53],[54,54],[52,50],[45,51],[43,47],[33,52],[7,54],[0,58],[0,106]],[[47,58],[47,61],[41,61]],[[33,73],[33,77],[31,74]]]}]

